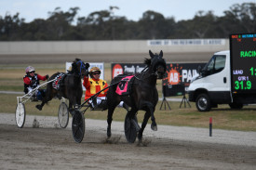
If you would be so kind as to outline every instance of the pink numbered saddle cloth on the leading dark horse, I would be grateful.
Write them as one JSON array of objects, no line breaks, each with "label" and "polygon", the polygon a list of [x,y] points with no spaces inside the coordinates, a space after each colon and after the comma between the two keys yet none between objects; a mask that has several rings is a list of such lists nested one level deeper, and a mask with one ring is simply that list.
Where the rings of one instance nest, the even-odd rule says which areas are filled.
[{"label": "pink numbered saddle cloth on the leading dark horse", "polygon": [[134,75],[122,78],[121,82],[117,85],[115,93],[118,95],[129,95],[131,92],[131,85]]}]

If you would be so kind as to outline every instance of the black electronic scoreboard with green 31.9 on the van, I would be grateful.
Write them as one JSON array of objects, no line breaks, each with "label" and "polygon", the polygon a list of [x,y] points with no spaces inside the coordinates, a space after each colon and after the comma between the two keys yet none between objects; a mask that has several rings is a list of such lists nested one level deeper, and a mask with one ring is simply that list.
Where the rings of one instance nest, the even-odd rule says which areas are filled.
[{"label": "black electronic scoreboard with green 31.9 on the van", "polygon": [[231,34],[229,40],[233,94],[256,94],[256,33]]}]

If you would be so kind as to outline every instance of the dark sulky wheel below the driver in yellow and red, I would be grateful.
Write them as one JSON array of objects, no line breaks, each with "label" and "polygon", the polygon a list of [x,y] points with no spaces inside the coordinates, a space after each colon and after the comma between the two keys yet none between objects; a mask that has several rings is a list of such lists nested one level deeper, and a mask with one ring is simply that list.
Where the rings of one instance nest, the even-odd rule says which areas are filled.
[{"label": "dark sulky wheel below the driver in yellow and red", "polygon": [[80,143],[85,135],[85,116],[81,111],[74,111],[72,133],[74,141]]}]

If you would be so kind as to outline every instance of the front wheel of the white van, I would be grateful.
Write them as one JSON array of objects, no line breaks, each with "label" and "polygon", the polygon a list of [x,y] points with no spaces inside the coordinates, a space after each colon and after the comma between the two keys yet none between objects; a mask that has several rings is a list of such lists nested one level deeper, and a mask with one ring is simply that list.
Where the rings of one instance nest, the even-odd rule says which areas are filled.
[{"label": "front wheel of the white van", "polygon": [[209,111],[210,101],[207,94],[200,94],[195,100],[196,108],[198,111]]}]

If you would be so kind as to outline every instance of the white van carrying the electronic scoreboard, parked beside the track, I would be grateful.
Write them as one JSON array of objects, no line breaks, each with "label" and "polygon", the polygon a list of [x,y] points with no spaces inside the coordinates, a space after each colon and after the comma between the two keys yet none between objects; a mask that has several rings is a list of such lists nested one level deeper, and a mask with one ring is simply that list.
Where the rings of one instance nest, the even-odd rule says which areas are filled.
[{"label": "white van carrying the electronic scoreboard, parked beside the track", "polygon": [[252,55],[256,33],[248,34],[231,35],[231,50],[215,53],[198,70],[188,87],[189,101],[195,102],[198,111],[210,111],[218,104],[242,109],[244,104],[256,103],[256,56]]}]

